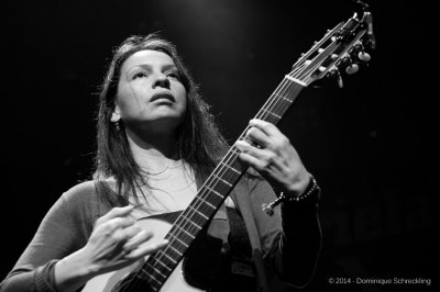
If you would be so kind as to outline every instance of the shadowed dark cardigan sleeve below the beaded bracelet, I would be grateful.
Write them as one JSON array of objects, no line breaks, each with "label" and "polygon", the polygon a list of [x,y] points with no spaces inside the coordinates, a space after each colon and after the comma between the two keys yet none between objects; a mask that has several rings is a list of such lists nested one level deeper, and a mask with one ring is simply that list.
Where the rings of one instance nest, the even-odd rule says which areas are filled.
[{"label": "shadowed dark cardigan sleeve below the beaded bracelet", "polygon": [[285,202],[273,215],[262,211],[262,204],[276,199],[272,187],[262,179],[253,179],[250,188],[251,207],[260,235],[264,260],[278,278],[295,287],[311,280],[321,247],[318,198],[300,202]]}]

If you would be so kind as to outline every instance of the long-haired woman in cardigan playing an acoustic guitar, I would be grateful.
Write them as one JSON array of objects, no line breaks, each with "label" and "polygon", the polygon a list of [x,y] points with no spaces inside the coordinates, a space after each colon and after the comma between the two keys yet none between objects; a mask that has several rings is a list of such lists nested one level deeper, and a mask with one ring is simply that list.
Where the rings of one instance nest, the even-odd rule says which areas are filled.
[{"label": "long-haired woman in cardigan playing an acoustic guitar", "polygon": [[[172,43],[151,34],[121,44],[97,120],[94,178],[53,205],[1,291],[167,291],[163,282],[176,280],[142,263],[155,255],[173,266],[172,240],[183,248],[173,252],[182,252],[188,291],[288,291],[310,281],[321,245],[319,187],[274,124],[251,120],[232,146],[240,164],[230,171],[244,172],[237,184],[205,186],[216,194],[220,182],[231,184],[220,204],[204,199],[212,216],[191,206],[230,146]],[[273,188],[287,199],[264,212],[277,198]],[[206,224],[183,224],[182,214]],[[178,225],[182,237],[153,240],[158,225],[144,229],[145,218]]]}]

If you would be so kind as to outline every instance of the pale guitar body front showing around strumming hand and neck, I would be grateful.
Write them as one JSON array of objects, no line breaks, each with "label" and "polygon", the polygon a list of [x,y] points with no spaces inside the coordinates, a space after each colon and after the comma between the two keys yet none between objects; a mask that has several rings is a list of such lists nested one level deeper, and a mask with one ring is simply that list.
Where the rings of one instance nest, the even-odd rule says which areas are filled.
[{"label": "pale guitar body front showing around strumming hand and neck", "polygon": [[[155,218],[143,218],[138,221],[139,226],[144,231],[153,232],[154,236],[147,244],[162,240],[172,228],[172,224]],[[145,257],[145,260],[148,256]],[[130,273],[136,272],[144,261],[138,261],[127,268],[114,272],[108,272],[95,277],[87,282],[81,292],[110,292],[119,291],[116,287],[123,281]],[[161,292],[201,292],[197,288],[189,285],[184,279],[183,261],[180,261],[176,269],[172,272],[165,284],[162,287]],[[143,292],[143,291],[142,291]],[[148,291],[145,291],[148,292]]]}]

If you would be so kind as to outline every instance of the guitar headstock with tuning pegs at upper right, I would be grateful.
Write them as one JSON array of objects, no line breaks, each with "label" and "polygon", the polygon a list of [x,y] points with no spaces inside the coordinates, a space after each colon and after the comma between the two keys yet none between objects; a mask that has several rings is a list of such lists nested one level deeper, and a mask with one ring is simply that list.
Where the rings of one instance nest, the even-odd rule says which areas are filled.
[{"label": "guitar headstock with tuning pegs at upper right", "polygon": [[371,59],[367,52],[375,48],[372,14],[366,4],[358,3],[361,12],[327,31],[307,53],[301,54],[288,74],[290,78],[305,86],[323,78],[336,78],[342,87],[340,71],[354,74]]}]

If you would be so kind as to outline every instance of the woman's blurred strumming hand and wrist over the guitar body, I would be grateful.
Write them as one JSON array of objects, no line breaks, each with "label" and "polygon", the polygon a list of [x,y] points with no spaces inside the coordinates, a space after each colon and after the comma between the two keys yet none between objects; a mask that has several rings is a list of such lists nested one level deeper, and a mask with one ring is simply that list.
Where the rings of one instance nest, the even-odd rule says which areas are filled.
[{"label": "woman's blurred strumming hand and wrist over the guitar body", "polygon": [[95,276],[122,269],[156,251],[166,239],[147,243],[153,234],[136,226],[132,206],[113,207],[98,218],[86,246],[55,266],[55,281],[62,291],[74,291]]}]

